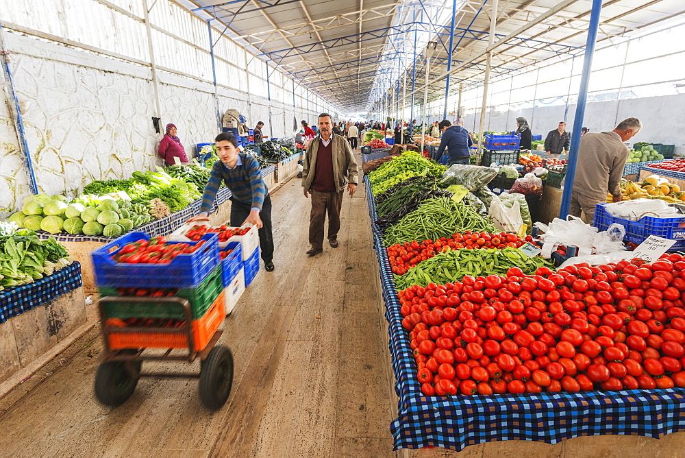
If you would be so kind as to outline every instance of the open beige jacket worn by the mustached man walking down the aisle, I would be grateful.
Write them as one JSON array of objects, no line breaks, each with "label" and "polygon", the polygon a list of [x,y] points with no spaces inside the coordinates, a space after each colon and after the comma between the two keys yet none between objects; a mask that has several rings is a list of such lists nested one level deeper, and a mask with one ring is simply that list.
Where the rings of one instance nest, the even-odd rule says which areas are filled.
[{"label": "open beige jacket worn by the mustached man walking down the aisle", "polygon": [[[352,149],[349,147],[347,140],[343,136],[332,135],[332,153],[333,153],[333,180],[336,183],[338,192],[343,191],[348,183],[357,184],[357,161],[352,154]],[[316,154],[319,152],[319,143],[321,136],[315,136],[310,141],[307,147],[307,152],[304,154],[304,163],[302,165],[302,186],[304,190],[309,192],[314,181],[314,173],[316,173]]]}]

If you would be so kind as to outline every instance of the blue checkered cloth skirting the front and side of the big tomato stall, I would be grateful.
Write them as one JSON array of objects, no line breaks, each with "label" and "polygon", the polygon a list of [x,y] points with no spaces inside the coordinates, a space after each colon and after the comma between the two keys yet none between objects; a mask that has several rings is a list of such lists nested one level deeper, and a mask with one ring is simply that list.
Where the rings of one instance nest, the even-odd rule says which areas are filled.
[{"label": "blue checkered cloth skirting the front and side of the big tomato stall", "polygon": [[[371,221],[377,213],[366,182]],[[556,444],[582,435],[662,435],[685,431],[685,389],[585,391],[497,396],[424,396],[416,380],[409,333],[383,243],[372,223],[390,324],[390,354],[399,415],[390,425],[395,450],[436,446],[462,450],[483,442],[532,440]]]}]

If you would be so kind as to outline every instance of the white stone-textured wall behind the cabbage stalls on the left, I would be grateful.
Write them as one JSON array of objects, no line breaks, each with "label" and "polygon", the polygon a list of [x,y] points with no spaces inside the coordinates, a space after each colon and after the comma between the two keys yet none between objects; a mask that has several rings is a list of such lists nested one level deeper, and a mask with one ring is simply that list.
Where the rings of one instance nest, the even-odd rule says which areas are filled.
[{"label": "white stone-textured wall behind the cabbage stalls on the left", "polygon": [[[149,67],[11,32],[5,38],[41,192],[73,197],[92,180],[125,179],[162,165],[157,149],[166,123],[177,125],[188,154],[219,132],[211,84],[158,72],[162,121],[157,134]],[[242,112],[251,128],[262,120],[270,136],[293,133],[292,106],[260,97],[248,104],[247,94],[226,88],[219,88],[218,99],[222,113]],[[0,103],[0,216],[21,206],[27,182],[14,124],[7,104]]]}]

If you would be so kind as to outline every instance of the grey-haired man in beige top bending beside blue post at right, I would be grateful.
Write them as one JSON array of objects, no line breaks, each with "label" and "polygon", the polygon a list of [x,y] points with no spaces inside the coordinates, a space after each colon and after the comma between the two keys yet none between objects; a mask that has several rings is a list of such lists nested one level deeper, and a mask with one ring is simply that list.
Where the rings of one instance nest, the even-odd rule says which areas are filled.
[{"label": "grey-haired man in beige top bending beside blue post at right", "polygon": [[623,142],[630,140],[642,129],[637,118],[624,119],[611,132],[588,132],[580,139],[575,178],[571,192],[569,215],[580,217],[581,210],[586,224],[593,224],[595,205],[606,202],[608,193],[614,202],[623,200],[621,176],[628,158],[628,148]]}]

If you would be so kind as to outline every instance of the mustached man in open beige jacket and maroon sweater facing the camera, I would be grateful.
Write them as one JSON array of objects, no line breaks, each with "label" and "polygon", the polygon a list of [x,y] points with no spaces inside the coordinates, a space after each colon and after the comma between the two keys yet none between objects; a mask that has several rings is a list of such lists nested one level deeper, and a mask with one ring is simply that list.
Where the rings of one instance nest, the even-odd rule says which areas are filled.
[{"label": "mustached man in open beige jacket and maroon sweater facing the camera", "polygon": [[[350,128],[352,129],[353,126]],[[309,221],[307,254],[314,256],[323,251],[323,224],[328,213],[328,243],[338,248],[340,209],[343,206],[345,187],[349,197],[357,189],[357,161],[350,145],[333,133],[333,121],[328,113],[319,115],[319,132],[307,147],[302,165],[304,197],[312,194],[312,212]],[[355,128],[356,129],[356,128]]]}]

